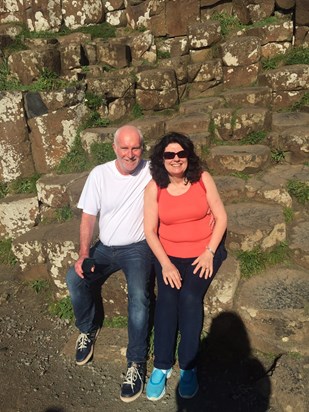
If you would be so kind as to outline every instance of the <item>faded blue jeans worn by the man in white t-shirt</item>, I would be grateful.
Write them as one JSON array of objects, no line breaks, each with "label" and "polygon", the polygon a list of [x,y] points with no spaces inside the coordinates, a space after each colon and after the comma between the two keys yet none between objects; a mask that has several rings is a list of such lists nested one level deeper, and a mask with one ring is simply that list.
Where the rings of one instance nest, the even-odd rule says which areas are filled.
[{"label": "faded blue jeans worn by the man in white t-shirt", "polygon": [[152,253],[146,241],[126,246],[98,242],[90,251],[95,272],[81,279],[71,267],[67,273],[76,326],[88,333],[102,326],[101,288],[112,273],[123,270],[128,285],[128,362],[145,362],[147,357],[149,281]]}]

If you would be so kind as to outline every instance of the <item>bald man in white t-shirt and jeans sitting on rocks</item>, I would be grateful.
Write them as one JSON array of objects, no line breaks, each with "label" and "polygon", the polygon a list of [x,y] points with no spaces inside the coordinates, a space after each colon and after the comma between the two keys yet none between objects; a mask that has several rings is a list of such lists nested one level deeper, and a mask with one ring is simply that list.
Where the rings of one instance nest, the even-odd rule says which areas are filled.
[{"label": "bald man in white t-shirt and jeans sitting on rocks", "polygon": [[[123,270],[128,285],[128,369],[120,398],[130,402],[142,393],[146,374],[152,255],[143,231],[143,195],[151,176],[136,127],[120,127],[113,149],[116,160],[90,172],[79,199],[83,209],[79,258],[67,273],[67,285],[80,331],[76,363],[84,365],[92,358],[102,326],[101,287],[112,273]],[[98,214],[100,240],[91,248]],[[88,257],[95,263],[90,273],[84,273],[82,264]]]}]

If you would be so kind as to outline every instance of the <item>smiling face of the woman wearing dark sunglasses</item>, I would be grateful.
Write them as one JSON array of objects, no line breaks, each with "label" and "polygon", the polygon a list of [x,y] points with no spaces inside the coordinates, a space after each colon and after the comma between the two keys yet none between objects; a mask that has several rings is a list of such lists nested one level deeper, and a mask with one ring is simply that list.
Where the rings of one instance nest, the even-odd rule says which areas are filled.
[{"label": "smiling face of the woman wearing dark sunglasses", "polygon": [[[173,156],[175,153],[178,154]],[[166,146],[163,153],[163,162],[170,176],[182,177],[188,167],[187,154],[179,143],[170,143]]]}]

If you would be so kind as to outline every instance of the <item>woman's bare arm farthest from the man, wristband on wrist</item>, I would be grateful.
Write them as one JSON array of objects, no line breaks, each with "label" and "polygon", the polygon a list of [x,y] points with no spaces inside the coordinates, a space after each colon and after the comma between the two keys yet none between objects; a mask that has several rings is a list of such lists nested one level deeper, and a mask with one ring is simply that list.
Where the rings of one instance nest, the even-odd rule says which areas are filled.
[{"label": "woman's bare arm farthest from the man, wristband on wrist", "polygon": [[213,253],[216,252],[226,231],[227,214],[212,176],[208,172],[203,172],[202,180],[206,187],[209,207],[215,218],[215,225],[205,252],[193,262],[193,265],[196,265],[193,273],[197,273],[201,269],[200,276],[207,278],[213,273]]}]

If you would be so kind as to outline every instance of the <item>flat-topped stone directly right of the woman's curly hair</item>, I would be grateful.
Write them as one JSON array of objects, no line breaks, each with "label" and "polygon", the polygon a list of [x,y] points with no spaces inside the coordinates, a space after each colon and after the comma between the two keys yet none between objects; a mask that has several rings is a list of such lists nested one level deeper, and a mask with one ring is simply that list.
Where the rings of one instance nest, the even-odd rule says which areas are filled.
[{"label": "flat-topped stone directly right of the woman's curly hair", "polygon": [[256,173],[266,168],[271,151],[264,145],[216,146],[210,150],[207,164],[217,173]]}]

